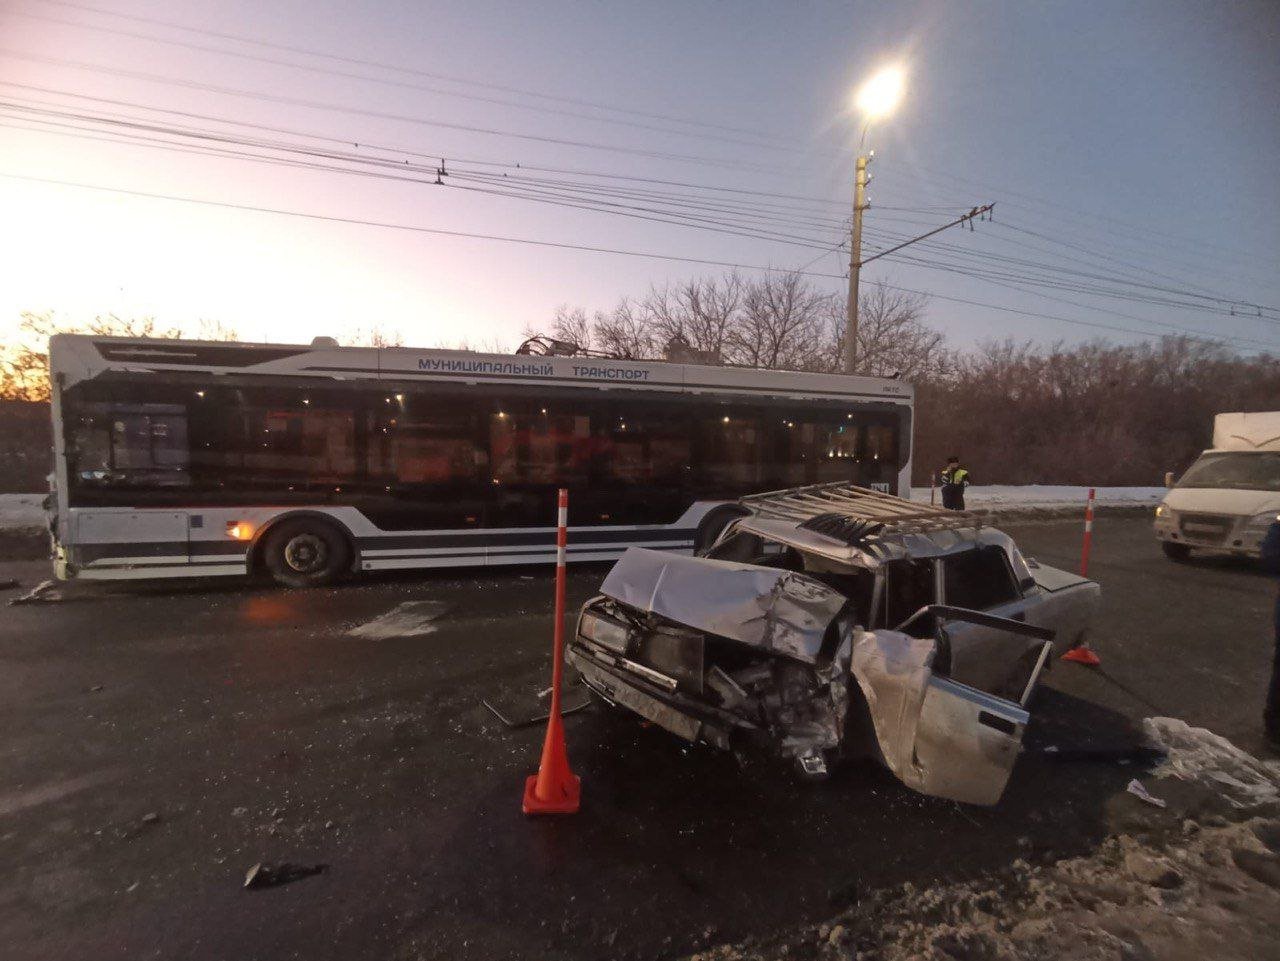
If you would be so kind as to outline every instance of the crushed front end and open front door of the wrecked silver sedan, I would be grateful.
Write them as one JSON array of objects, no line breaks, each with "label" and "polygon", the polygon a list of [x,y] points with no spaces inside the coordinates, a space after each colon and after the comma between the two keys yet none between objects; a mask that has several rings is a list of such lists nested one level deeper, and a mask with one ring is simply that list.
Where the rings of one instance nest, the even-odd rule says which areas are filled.
[{"label": "crushed front end and open front door of the wrecked silver sedan", "polygon": [[[940,605],[922,616],[1028,636],[1029,694],[1052,631]],[[995,804],[1028,713],[936,671],[950,659],[941,633],[867,631],[850,596],[801,572],[632,548],[584,607],[568,658],[600,697],[686,741],[762,749],[809,777],[870,755],[914,790]]]}]

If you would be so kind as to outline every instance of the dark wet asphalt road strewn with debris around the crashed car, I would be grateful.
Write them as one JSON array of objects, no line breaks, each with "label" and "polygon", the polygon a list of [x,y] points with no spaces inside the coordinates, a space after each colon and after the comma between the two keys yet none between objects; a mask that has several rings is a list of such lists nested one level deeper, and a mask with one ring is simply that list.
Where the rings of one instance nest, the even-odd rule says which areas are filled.
[{"label": "dark wet asphalt road strewn with debris around the crashed car", "polygon": [[[1046,563],[1078,559],[1078,522],[1006,530]],[[524,818],[541,729],[509,731],[480,699],[539,709],[547,571],[91,587],[5,608],[0,953],[654,958],[883,886],[1084,851],[1134,769],[1038,749],[1133,743],[1140,718],[1169,714],[1263,750],[1274,598],[1245,564],[1170,563],[1132,517],[1100,517],[1091,573],[1103,669],[1055,665],[989,810],[869,765],[801,786],[593,708],[566,720],[582,811]],[[571,604],[602,575],[573,569]],[[244,891],[256,861],[329,868]]]}]

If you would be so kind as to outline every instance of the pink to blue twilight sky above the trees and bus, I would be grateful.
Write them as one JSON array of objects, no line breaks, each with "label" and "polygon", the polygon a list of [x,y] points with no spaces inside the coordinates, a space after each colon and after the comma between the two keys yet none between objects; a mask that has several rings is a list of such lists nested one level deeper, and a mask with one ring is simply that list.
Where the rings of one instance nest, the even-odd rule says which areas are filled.
[{"label": "pink to blue twilight sky above the trees and bus", "polygon": [[[869,136],[868,252],[979,203],[995,223],[877,261],[864,283],[934,294],[929,322],[961,345],[1185,329],[1280,352],[1277,50],[1265,0],[0,0],[0,331],[52,310],[511,348],[557,305],[721,271],[321,218],[748,274],[808,265],[842,290],[851,93],[901,63],[906,97]],[[202,139],[151,129],[175,124]],[[407,179],[195,152],[232,134],[385,157]],[[180,148],[120,142],[140,136]],[[412,166],[440,157],[444,186]],[[521,189],[476,178],[499,164],[611,203],[735,212],[703,216],[713,232],[476,189]],[[724,225],[753,211],[773,219]]]}]

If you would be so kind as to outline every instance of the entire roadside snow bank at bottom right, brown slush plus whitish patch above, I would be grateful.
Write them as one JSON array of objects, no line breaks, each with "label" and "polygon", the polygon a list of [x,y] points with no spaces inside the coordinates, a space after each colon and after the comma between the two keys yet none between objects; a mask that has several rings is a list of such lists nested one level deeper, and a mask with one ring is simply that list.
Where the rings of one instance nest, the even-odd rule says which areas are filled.
[{"label": "entire roadside snow bank at bottom right, brown slush plus whitish patch above", "polygon": [[[1080,857],[1016,859],[983,878],[870,892],[822,924],[686,961],[1252,961],[1280,946],[1280,764],[1204,728],[1144,720],[1167,759],[1156,778],[1197,782],[1151,815],[1124,793],[1128,830]],[[1125,815],[1126,804],[1130,814]],[[1245,810],[1248,809],[1248,810]],[[1234,816],[1225,816],[1234,815]],[[1253,816],[1251,816],[1253,815]]]}]

